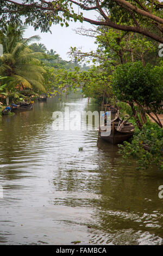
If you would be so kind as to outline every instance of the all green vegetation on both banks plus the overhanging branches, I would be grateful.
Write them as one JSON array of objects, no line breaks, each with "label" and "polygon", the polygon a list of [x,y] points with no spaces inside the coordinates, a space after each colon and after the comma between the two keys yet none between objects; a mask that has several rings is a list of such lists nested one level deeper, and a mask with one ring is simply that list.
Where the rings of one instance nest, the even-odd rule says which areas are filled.
[{"label": "all green vegetation on both banks plus the overhanging branches", "polygon": [[[137,159],[138,168],[157,164],[163,168],[162,122],[163,60],[159,45],[163,43],[163,5],[159,0],[112,1],[0,1],[1,90],[6,99],[20,99],[23,92],[48,92],[51,95],[82,90],[99,103],[111,103],[131,116],[136,126],[133,140],[121,145],[124,159]],[[78,7],[78,13],[74,7]],[[82,10],[87,10],[85,16]],[[96,20],[90,11],[97,11]],[[70,54],[74,62],[62,60],[42,44],[23,39],[21,16],[25,24],[50,31],[53,23],[68,26],[70,21],[89,22],[93,29],[77,33],[95,38],[96,52],[83,53],[76,47]],[[8,26],[6,26],[8,23]],[[15,26],[15,23],[18,24]],[[80,62],[93,63],[90,69]],[[24,63],[24,66],[22,65]],[[32,72],[33,75],[29,76]],[[37,78],[37,79],[35,79]],[[149,119],[151,118],[151,119]],[[151,122],[153,121],[153,123]],[[143,148],[146,143],[149,150]]]}]

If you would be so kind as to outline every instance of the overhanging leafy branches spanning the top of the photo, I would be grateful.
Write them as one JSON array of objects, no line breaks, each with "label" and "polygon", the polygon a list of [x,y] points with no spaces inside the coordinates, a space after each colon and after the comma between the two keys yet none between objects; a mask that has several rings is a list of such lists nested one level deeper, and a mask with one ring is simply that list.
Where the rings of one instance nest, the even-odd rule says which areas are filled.
[{"label": "overhanging leafy branches spanning the top of the photo", "polygon": [[[163,43],[163,4],[159,0],[22,0],[21,3],[0,0],[0,4],[1,25],[8,20],[22,23],[21,16],[24,16],[26,24],[45,32],[50,30],[52,23],[68,26],[71,20],[79,20],[139,33]],[[76,7],[79,8],[77,13]],[[97,12],[97,19],[90,18],[92,10]]]}]

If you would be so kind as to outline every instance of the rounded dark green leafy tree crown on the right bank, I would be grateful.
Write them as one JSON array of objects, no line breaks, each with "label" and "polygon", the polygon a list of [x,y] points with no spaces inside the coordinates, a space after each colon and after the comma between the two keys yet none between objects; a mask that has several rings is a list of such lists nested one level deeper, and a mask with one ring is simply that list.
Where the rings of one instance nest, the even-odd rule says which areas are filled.
[{"label": "rounded dark green leafy tree crown on the right bank", "polygon": [[149,108],[149,112],[162,112],[163,66],[143,66],[141,62],[117,66],[113,75],[113,90],[118,100],[135,102]]}]

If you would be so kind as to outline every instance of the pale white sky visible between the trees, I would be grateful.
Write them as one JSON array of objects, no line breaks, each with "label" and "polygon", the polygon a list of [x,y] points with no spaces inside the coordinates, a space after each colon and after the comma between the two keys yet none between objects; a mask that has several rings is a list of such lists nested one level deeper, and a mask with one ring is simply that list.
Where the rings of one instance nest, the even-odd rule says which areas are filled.
[{"label": "pale white sky visible between the trees", "polygon": [[[19,1],[22,2],[22,1]],[[74,11],[78,11],[74,8]],[[83,14],[88,16],[91,19],[96,19],[97,13],[95,11],[83,11]],[[26,37],[30,37],[32,35],[40,35],[41,36],[41,44],[44,44],[47,47],[47,50],[53,49],[56,51],[62,59],[70,60],[67,52],[70,50],[70,47],[82,47],[83,52],[89,52],[96,50],[96,44],[94,43],[95,39],[90,38],[89,36],[78,35],[73,29],[77,29],[79,27],[84,28],[92,28],[93,26],[87,22],[74,22],[70,21],[69,27],[61,27],[60,25],[52,25],[51,32],[41,33],[40,29],[34,31],[33,27],[28,27],[26,33],[24,34]]]}]

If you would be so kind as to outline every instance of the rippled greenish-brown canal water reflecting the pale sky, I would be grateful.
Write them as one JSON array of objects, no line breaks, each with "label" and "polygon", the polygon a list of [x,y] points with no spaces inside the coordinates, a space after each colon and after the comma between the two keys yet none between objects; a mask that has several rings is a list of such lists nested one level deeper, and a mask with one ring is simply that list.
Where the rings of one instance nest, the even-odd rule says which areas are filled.
[{"label": "rippled greenish-brown canal water reflecting the pale sky", "polygon": [[161,245],[163,173],[122,163],[95,130],[54,131],[65,106],[97,110],[75,94],[0,120],[0,244]]}]

